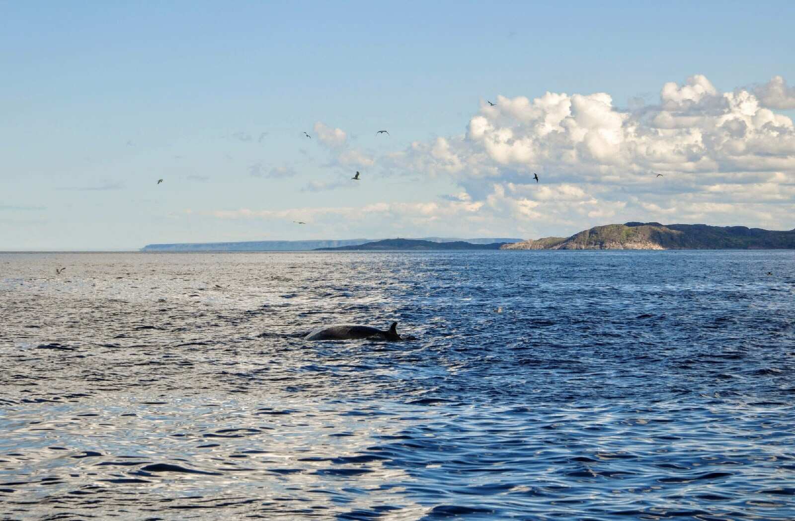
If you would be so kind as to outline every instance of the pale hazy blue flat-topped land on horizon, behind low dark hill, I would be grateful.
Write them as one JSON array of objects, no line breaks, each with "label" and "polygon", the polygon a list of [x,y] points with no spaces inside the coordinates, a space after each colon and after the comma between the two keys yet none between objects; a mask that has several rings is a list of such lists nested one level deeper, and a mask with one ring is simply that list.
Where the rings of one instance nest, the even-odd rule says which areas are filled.
[{"label": "pale hazy blue flat-topped land on horizon, behind low dark hill", "polygon": [[[172,243],[147,244],[141,251],[308,251],[320,248],[355,246],[371,243],[375,239],[342,239],[342,240],[261,240],[242,243]],[[466,241],[472,244],[518,243],[522,239],[451,239],[445,237],[424,237],[423,241],[432,243],[449,243]]]}]

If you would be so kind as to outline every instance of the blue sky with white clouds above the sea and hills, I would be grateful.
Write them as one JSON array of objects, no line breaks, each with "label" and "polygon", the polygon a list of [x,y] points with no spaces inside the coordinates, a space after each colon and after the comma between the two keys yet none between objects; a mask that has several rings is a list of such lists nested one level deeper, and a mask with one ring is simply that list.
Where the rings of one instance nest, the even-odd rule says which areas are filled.
[{"label": "blue sky with white clouds above the sea and hills", "polygon": [[795,228],[795,2],[552,4],[0,0],[0,251]]}]

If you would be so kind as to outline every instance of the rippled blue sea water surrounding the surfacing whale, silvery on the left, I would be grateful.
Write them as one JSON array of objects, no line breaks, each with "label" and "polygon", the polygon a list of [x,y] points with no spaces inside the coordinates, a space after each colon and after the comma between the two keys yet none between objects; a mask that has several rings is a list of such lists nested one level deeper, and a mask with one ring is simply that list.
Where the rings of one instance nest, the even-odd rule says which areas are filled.
[{"label": "rippled blue sea water surrounding the surfacing whale, silvery on the left", "polygon": [[0,519],[795,519],[793,325],[793,251],[0,255]]}]

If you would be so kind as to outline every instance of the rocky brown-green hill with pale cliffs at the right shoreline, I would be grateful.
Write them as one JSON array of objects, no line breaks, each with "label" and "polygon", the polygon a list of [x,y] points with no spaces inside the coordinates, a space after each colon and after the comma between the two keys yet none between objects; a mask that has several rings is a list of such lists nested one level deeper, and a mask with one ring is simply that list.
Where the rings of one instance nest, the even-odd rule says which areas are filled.
[{"label": "rocky brown-green hill with pale cliffs at the right shoreline", "polygon": [[626,223],[596,226],[568,238],[506,244],[504,250],[725,250],[795,249],[795,230],[744,226]]}]

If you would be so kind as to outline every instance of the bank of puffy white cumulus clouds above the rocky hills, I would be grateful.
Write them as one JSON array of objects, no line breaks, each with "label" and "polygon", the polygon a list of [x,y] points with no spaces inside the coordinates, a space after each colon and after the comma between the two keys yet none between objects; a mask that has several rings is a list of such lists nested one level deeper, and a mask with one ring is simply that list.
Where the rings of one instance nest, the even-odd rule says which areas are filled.
[{"label": "bank of puffy white cumulus clouds above the rocky hills", "polygon": [[463,134],[413,142],[380,157],[348,146],[343,130],[318,122],[315,132],[335,154],[335,165],[445,177],[460,191],[428,202],[285,212],[344,216],[351,226],[370,216],[364,221],[396,229],[467,226],[525,237],[626,220],[791,229],[795,128],[771,109],[793,107],[795,91],[781,76],[726,92],[705,76],[691,76],[664,84],[657,103],[631,107],[620,107],[606,92],[498,96],[494,107],[481,102]]}]

